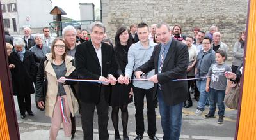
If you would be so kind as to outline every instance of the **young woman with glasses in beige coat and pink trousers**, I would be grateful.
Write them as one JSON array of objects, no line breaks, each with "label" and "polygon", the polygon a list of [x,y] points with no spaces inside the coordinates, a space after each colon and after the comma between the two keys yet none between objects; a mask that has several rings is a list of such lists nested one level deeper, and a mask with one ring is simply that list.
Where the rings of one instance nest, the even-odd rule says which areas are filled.
[{"label": "young woman with glasses in beige coat and pink trousers", "polygon": [[[47,53],[40,63],[36,77],[36,102],[40,108],[45,108],[45,115],[51,117],[50,139],[56,139],[61,123],[67,139],[71,139],[71,120],[78,105],[73,94],[73,88],[65,77],[76,78],[76,67],[73,57],[67,55],[67,44],[63,39],[56,38],[52,42],[51,53]],[[42,85],[44,77],[47,79],[47,92],[44,97]]]}]

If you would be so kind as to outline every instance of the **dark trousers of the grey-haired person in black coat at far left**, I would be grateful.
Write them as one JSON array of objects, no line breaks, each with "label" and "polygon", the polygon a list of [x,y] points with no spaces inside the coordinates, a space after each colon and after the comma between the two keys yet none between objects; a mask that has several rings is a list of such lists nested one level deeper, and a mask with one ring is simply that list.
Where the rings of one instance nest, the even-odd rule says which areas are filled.
[{"label": "dark trousers of the grey-haired person in black coat at far left", "polygon": [[25,115],[25,112],[31,113],[31,97],[28,95],[17,95],[20,115]]}]

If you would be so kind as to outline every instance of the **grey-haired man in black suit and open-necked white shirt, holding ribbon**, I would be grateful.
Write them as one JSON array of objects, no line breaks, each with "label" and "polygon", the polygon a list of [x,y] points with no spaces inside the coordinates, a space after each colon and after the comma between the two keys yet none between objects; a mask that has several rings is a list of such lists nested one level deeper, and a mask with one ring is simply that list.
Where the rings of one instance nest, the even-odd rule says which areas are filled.
[{"label": "grey-haired man in black suit and open-necked white shirt, holding ribbon", "polygon": [[102,43],[106,29],[100,22],[94,22],[90,29],[91,39],[76,48],[76,71],[79,79],[100,80],[100,83],[79,82],[78,99],[81,101],[82,129],[84,139],[93,140],[93,115],[95,106],[98,114],[99,139],[108,139],[108,102],[116,62],[113,48]]}]

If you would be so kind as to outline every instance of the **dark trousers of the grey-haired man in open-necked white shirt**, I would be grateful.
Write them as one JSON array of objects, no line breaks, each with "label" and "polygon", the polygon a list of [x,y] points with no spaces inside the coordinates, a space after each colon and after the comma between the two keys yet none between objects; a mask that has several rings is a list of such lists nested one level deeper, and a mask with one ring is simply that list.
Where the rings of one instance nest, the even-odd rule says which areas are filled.
[{"label": "dark trousers of the grey-haired man in open-necked white shirt", "polygon": [[108,102],[104,97],[104,91],[100,93],[100,102],[86,103],[81,101],[82,111],[82,129],[84,133],[84,140],[93,140],[93,115],[95,106],[97,108],[98,125],[99,125],[99,139],[109,139],[108,134]]}]

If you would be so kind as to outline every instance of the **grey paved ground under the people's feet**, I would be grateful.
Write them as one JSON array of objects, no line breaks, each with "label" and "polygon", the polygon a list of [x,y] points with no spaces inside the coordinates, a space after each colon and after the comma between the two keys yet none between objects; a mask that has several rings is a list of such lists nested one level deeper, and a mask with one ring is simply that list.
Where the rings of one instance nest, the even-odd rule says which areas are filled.
[{"label": "grey paved ground under the people's feet", "polygon": [[[193,97],[193,95],[191,95]],[[17,112],[17,118],[19,123],[20,137],[24,140],[29,139],[47,139],[49,137],[49,127],[51,126],[50,118],[44,115],[44,111],[40,111],[35,107],[35,94],[31,95],[31,102],[33,106],[33,112],[35,116],[26,116],[25,119],[20,118],[19,108],[17,107],[17,97],[15,99],[15,108]],[[147,107],[145,103],[145,140],[148,139],[147,136]],[[236,116],[237,111],[226,108],[225,112],[225,122],[222,125],[217,123],[218,117],[212,119],[204,119],[202,116],[194,116],[196,110],[197,102],[193,100],[193,107],[188,109],[183,109],[183,118],[182,118],[182,132],[180,139],[234,139],[234,134],[236,130]],[[205,109],[204,115],[208,113],[209,109]],[[161,129],[161,118],[159,116],[159,109],[156,108],[157,113],[157,134],[156,136],[161,138],[163,136],[163,130]],[[130,139],[134,139],[136,136],[135,127],[136,122],[134,115],[135,109],[134,104],[129,104],[129,125],[127,132],[129,133]],[[217,114],[217,113],[216,113]],[[109,108],[109,115],[111,115],[111,108]],[[218,115],[217,115],[218,116]],[[110,117],[110,116],[109,116]],[[97,118],[97,113],[95,113],[95,118]],[[94,139],[98,139],[98,127],[97,119],[94,120]],[[76,137],[75,139],[83,139],[83,131],[81,129],[81,116],[79,113],[76,114]],[[119,125],[122,130],[122,125]],[[111,119],[109,119],[109,139],[114,139],[115,132],[113,131],[113,125]],[[122,134],[122,132],[120,132]],[[122,137],[122,136],[121,136]],[[60,130],[58,139],[63,139],[63,130]]]}]

